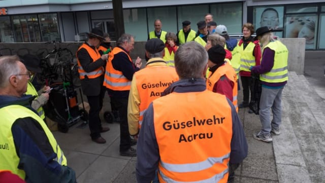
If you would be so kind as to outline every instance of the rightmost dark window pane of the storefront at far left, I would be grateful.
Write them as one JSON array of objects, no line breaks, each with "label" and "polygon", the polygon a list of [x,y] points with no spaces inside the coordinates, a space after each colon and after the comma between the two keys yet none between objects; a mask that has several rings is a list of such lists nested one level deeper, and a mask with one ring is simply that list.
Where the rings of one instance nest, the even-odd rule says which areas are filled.
[{"label": "rightmost dark window pane of the storefront at far left", "polygon": [[39,14],[43,41],[61,41],[57,14]]}]

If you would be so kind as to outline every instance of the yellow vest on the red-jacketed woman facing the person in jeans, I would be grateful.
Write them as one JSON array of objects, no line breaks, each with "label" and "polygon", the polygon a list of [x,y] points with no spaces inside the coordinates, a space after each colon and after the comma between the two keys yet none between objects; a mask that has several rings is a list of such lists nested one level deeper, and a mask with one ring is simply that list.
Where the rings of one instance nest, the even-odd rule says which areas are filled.
[{"label": "yellow vest on the red-jacketed woman facing the person in jeans", "polygon": [[249,42],[246,48],[244,49],[244,44],[240,46],[237,45],[240,49],[240,70],[241,71],[249,71],[250,66],[255,66],[255,57],[253,56],[253,51],[255,48],[255,44],[253,42]]}]

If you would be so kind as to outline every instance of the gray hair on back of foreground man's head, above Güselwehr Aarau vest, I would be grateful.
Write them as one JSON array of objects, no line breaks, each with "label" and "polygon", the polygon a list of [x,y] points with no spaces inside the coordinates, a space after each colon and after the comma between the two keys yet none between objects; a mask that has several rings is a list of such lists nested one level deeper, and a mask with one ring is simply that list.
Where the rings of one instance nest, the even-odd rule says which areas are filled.
[{"label": "gray hair on back of foreground man's head, above G\u00fcselwehr Aarau vest", "polygon": [[187,42],[175,53],[175,69],[180,79],[202,78],[207,64],[208,52],[197,42]]}]

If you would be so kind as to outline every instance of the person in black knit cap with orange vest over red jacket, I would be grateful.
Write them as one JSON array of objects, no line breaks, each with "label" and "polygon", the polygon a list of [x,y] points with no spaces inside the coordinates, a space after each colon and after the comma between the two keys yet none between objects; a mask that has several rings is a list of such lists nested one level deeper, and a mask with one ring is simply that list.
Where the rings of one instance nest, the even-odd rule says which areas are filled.
[{"label": "person in black knit cap with orange vest over red jacket", "polygon": [[236,111],[237,106],[237,75],[229,63],[224,62],[226,52],[217,44],[208,50],[208,66],[210,74],[207,78],[207,89],[225,95],[233,102]]}]

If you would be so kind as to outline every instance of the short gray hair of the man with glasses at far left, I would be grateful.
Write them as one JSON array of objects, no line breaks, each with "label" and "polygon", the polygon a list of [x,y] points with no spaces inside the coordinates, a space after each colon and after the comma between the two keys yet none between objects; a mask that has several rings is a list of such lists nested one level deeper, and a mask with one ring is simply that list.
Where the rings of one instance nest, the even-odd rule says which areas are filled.
[{"label": "short gray hair of the man with glasses at far left", "polygon": [[19,60],[16,55],[0,57],[0,88],[5,88],[9,84],[10,76],[20,73]]}]

